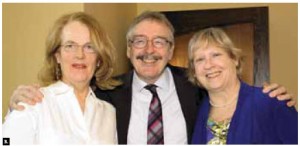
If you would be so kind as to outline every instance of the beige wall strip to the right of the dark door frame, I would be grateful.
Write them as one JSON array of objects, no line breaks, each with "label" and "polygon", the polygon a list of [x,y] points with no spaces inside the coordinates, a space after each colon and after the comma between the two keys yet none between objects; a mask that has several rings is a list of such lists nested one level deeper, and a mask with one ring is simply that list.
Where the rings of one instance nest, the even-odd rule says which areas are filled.
[{"label": "beige wall strip to the right of the dark door frame", "polygon": [[271,81],[298,97],[298,5],[271,4],[269,8]]}]

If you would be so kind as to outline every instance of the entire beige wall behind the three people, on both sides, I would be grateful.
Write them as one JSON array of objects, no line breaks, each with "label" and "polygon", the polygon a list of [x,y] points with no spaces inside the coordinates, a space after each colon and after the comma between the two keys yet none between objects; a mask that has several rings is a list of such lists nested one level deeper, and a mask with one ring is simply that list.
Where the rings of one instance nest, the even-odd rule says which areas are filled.
[{"label": "entire beige wall behind the three people, on both sides", "polygon": [[[44,42],[53,22],[62,14],[85,11],[98,19],[118,50],[116,74],[128,69],[125,33],[131,20],[144,10],[269,7],[271,82],[298,95],[297,4],[2,4],[2,114],[13,90],[36,82],[44,56]],[[122,63],[122,64],[121,64]],[[2,117],[3,117],[2,116]]]}]

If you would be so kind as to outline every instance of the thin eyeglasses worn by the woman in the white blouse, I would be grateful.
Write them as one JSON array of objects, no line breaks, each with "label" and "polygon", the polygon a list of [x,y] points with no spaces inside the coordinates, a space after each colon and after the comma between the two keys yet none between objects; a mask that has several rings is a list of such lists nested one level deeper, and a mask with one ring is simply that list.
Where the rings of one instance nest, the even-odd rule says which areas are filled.
[{"label": "thin eyeglasses worn by the woman in the white blouse", "polygon": [[69,53],[74,53],[78,50],[78,48],[82,48],[84,53],[96,53],[96,48],[92,44],[84,44],[84,45],[78,45],[76,43],[67,43],[64,45],[60,45],[62,49]]}]

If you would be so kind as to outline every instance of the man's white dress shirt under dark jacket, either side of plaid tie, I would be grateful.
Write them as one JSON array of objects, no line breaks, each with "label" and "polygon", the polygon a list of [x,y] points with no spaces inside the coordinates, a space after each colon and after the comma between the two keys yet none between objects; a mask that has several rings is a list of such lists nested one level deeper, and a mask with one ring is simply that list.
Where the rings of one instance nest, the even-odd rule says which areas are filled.
[{"label": "man's white dress shirt under dark jacket, either side of plaid tie", "polygon": [[[157,94],[162,104],[164,143],[187,144],[186,123],[170,69],[166,68],[154,84],[158,86]],[[133,74],[128,144],[147,144],[148,113],[152,94],[144,88],[146,85],[136,73]]]}]

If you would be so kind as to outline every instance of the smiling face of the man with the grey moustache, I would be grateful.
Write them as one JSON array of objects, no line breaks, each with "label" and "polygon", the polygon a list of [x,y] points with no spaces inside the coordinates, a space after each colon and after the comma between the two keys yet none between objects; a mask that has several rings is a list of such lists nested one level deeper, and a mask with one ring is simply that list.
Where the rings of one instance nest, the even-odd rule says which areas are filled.
[{"label": "smiling face of the man with the grey moustache", "polygon": [[165,47],[156,48],[153,46],[152,40],[157,38],[169,39],[172,33],[162,23],[144,20],[136,25],[133,34],[134,38],[132,39],[144,37],[148,39],[148,43],[144,48],[136,48],[130,45],[127,48],[127,57],[142,80],[147,83],[154,83],[171,60],[173,47],[168,43]]}]

